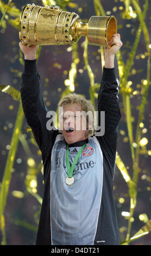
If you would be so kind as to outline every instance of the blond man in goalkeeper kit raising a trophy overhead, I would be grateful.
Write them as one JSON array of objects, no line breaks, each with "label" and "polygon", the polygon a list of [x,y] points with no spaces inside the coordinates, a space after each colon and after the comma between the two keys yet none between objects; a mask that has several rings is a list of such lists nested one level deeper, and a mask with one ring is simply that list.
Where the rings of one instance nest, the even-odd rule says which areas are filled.
[{"label": "blond man in goalkeeper kit raising a trophy overhead", "polygon": [[46,128],[47,109],[36,69],[38,46],[27,47],[20,42],[25,59],[22,105],[44,166],[45,190],[36,245],[119,245],[112,182],[121,118],[114,72],[115,54],[122,46],[120,35],[112,36],[109,45],[104,49],[105,65],[98,93],[98,111],[105,111],[105,133],[90,136],[89,126],[78,130],[76,124],[81,124],[77,112],[85,106],[92,110],[92,106],[75,94],[59,102],[63,107],[62,133]]}]

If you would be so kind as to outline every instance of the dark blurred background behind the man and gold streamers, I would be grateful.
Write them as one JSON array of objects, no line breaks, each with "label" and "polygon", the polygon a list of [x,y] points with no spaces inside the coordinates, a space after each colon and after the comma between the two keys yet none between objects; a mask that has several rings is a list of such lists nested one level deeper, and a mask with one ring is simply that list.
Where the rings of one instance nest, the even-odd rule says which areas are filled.
[{"label": "dark blurred background behind the man and gold streamers", "polygon": [[[8,1],[4,1],[8,3]],[[78,4],[77,8],[74,8],[75,13],[77,13],[81,19],[89,19],[92,15],[95,15],[95,8],[93,1],[89,0],[78,0],[73,1]],[[140,7],[143,9],[143,4],[145,1],[140,1]],[[41,1],[17,1],[14,0],[13,3],[16,8],[20,9],[23,5],[27,3],[35,3],[36,5],[42,5]],[[134,43],[136,31],[139,27],[139,20],[136,19],[123,19],[122,13],[124,11],[120,7],[124,8],[123,1],[101,1],[105,12],[110,11],[107,15],[114,15],[117,18],[118,33],[121,34],[121,40],[123,42],[123,47],[121,49],[122,57],[124,63],[127,62],[131,46]],[[78,8],[81,7],[82,12],[79,13]],[[67,6],[68,11],[72,11],[71,8]],[[149,29],[150,34],[150,1],[149,9],[147,11],[146,24]],[[0,16],[1,17],[1,16]],[[78,42],[78,53],[80,62],[78,64],[78,74],[76,78],[77,87],[75,93],[80,93],[86,95],[87,99],[89,96],[89,76],[87,71],[84,70],[83,61],[83,47],[82,42],[84,38],[81,38]],[[19,48],[18,48],[18,30],[7,23],[7,27],[0,28],[0,51],[1,51],[1,72],[0,72],[0,84],[10,84],[17,90],[20,90],[21,86],[21,73],[23,72],[23,66],[18,60]],[[45,102],[49,110],[56,110],[57,103],[60,100],[61,93],[64,91],[65,84],[64,81],[68,78],[67,74],[64,74],[65,70],[69,71],[72,62],[72,52],[68,52],[67,48],[70,46],[42,46],[41,54],[38,60],[38,69],[41,75],[41,83],[43,96],[45,97]],[[100,83],[102,77],[102,66],[100,63],[100,54],[98,53],[98,46],[89,46],[89,63],[91,69],[95,74],[95,82]],[[141,54],[146,52],[146,44],[144,41],[144,35],[141,34],[141,39],[139,42],[139,47],[137,48],[137,53],[134,60],[133,69],[139,71],[136,75],[130,76],[129,81],[133,82],[133,89],[137,89],[138,84],[141,84],[143,79],[146,79],[147,74],[147,57],[143,58]],[[55,64],[58,63],[58,64]],[[55,65],[54,65],[55,64]],[[12,70],[20,71],[20,76],[18,73],[12,72]],[[83,69],[83,73],[79,70]],[[117,60],[115,60],[115,70],[118,76]],[[139,89],[141,90],[141,88]],[[142,137],[148,139],[148,144],[146,146],[147,150],[150,150],[150,89],[148,94],[148,101],[144,112],[144,128],[147,129],[147,133],[143,134]],[[8,94],[0,92],[0,102],[1,102],[1,114],[0,114],[0,180],[2,182],[5,163],[7,161],[9,145],[11,143],[11,136],[15,125],[15,119],[18,111],[19,103],[12,99]],[[137,118],[138,118],[138,107],[141,102],[141,95],[131,97],[131,106],[133,113],[133,132],[135,134]],[[122,111],[123,103],[122,96],[119,94],[119,105],[121,106],[122,119],[119,123],[119,139],[117,151],[121,156],[125,166],[128,169],[130,176],[133,176],[132,161],[130,155],[129,141],[127,139],[127,124],[125,123],[125,115]],[[11,107],[10,107],[11,106]],[[12,108],[12,109],[10,109]],[[37,154],[38,149],[30,141],[30,133],[27,132],[27,123],[24,119],[22,126],[22,133],[26,135],[26,139],[30,150],[32,152],[32,157],[36,164],[41,161],[41,156]],[[121,134],[121,130],[125,132],[125,135]],[[24,227],[24,222],[29,223],[32,227],[37,228],[37,223],[35,221],[35,214],[39,217],[38,212],[40,210],[40,204],[37,202],[36,198],[33,197],[26,190],[26,185],[24,180],[27,174],[27,159],[28,156],[24,152],[22,144],[19,142],[14,169],[12,172],[12,178],[9,187],[9,193],[7,198],[7,205],[5,208],[5,225],[7,234],[7,244],[8,245],[34,245],[36,239],[36,231]],[[140,214],[146,214],[150,220],[150,182],[149,179],[144,178],[146,176],[150,177],[150,165],[151,157],[148,154],[142,154],[140,157],[140,167],[141,172],[139,175],[139,185],[137,189],[137,206],[135,209],[134,220],[131,228],[131,236],[133,236],[139,229],[145,224],[139,218]],[[37,194],[42,197],[43,194],[43,183],[42,183],[42,173],[39,172],[37,175]],[[17,198],[13,196],[13,191],[23,192],[23,198]],[[119,172],[117,166],[115,167],[115,178],[114,178],[114,192],[115,192],[115,202],[117,208],[117,217],[121,241],[125,240],[125,235],[127,234],[128,220],[122,216],[123,211],[129,212],[130,199],[128,195],[128,186],[124,181],[121,173]],[[124,198],[124,202],[120,203],[120,198]],[[20,221],[20,223],[18,222]],[[131,242],[130,245],[150,245],[150,233],[143,236],[141,239]]]}]

